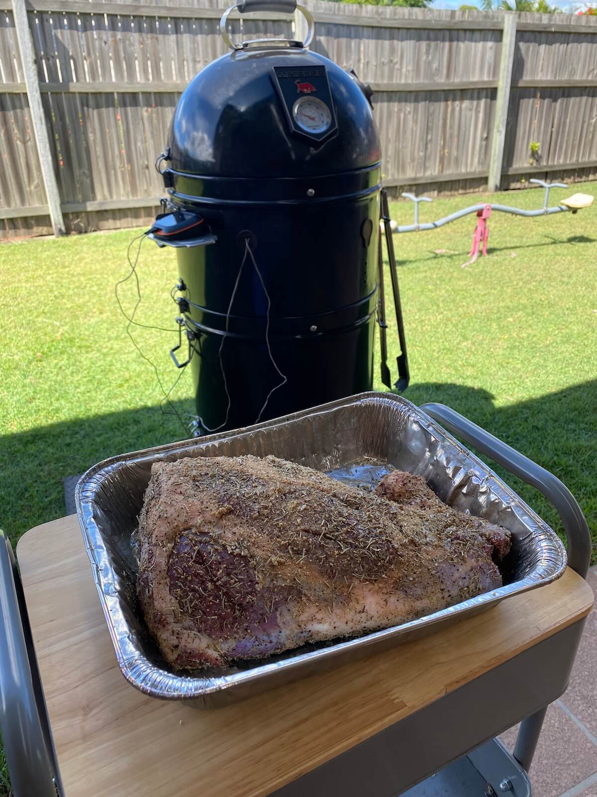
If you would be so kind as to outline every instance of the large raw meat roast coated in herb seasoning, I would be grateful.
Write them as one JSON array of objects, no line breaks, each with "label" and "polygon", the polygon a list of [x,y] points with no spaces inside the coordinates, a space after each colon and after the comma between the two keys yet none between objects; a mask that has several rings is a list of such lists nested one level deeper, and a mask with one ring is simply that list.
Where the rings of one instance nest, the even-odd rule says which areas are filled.
[{"label": "large raw meat roast coated in herb seasoning", "polygon": [[395,626],[501,586],[510,533],[421,477],[376,493],[275,457],[152,466],[138,595],[166,662],[225,666]]}]

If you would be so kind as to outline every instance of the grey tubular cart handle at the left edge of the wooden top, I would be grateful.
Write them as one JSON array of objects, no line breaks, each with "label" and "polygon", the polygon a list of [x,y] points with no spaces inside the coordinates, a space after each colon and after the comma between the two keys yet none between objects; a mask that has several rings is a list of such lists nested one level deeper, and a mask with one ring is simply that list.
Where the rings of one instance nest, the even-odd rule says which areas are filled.
[{"label": "grey tubular cart handle at the left edge of the wooden top", "polygon": [[18,572],[10,540],[0,528],[0,729],[15,797],[57,797],[25,632]]}]

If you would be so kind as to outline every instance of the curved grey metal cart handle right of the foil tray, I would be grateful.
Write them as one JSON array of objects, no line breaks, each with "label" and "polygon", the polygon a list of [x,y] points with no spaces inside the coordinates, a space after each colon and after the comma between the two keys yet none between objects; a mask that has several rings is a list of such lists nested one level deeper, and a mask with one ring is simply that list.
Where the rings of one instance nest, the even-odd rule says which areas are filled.
[{"label": "curved grey metal cart handle right of the foil tray", "polygon": [[431,402],[422,404],[420,409],[431,418],[443,423],[447,430],[458,434],[470,446],[482,451],[510,473],[544,494],[550,504],[556,508],[564,524],[568,539],[568,566],[586,578],[591,562],[591,534],[582,509],[568,487],[553,473],[549,473],[505,442],[494,438],[493,434],[464,418],[451,407]]}]

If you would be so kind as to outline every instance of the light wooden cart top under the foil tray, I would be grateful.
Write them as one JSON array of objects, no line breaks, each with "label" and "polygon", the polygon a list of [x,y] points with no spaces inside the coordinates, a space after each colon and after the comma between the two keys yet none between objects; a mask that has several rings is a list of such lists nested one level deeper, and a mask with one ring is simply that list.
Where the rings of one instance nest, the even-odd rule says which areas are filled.
[{"label": "light wooden cart top under the foil tray", "polygon": [[18,562],[66,797],[260,797],[570,625],[573,571],[430,637],[224,709],[146,697],[116,664],[76,516]]}]

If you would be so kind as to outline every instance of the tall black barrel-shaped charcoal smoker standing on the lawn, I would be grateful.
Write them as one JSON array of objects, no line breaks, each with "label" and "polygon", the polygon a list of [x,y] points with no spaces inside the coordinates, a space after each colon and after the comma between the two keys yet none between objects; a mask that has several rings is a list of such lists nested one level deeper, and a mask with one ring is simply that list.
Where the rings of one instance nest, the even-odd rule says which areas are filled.
[{"label": "tall black barrel-shaped charcoal smoker standing on the lawn", "polygon": [[[298,8],[305,40],[232,41],[235,8]],[[193,371],[196,434],[370,390],[376,316],[391,387],[383,227],[401,347],[396,387],[408,385],[370,88],[310,52],[313,19],[295,0],[244,0],[224,13],[220,32],[231,52],[182,93],[156,162],[167,199],[150,231],[178,248],[171,353]]]}]

